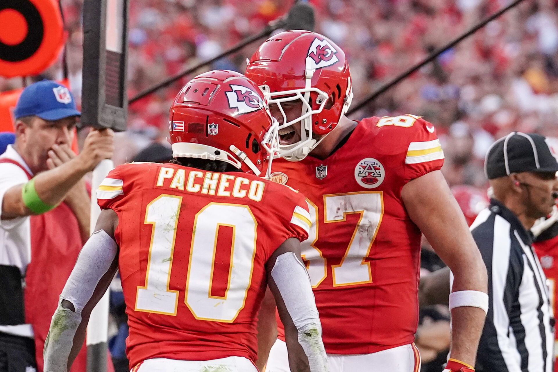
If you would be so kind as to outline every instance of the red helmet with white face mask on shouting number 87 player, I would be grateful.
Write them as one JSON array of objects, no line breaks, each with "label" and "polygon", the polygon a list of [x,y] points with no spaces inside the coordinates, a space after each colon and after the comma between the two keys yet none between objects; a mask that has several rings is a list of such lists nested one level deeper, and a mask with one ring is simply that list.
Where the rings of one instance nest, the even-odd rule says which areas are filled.
[{"label": "red helmet with white face mask on shouting number 87 player", "polygon": [[[258,84],[283,122],[300,123],[300,141],[281,145],[279,155],[304,159],[335,128],[353,99],[349,64],[340,47],[310,31],[285,31],[266,40],[248,61],[246,76]],[[300,117],[287,121],[282,103],[300,100]],[[321,138],[312,138],[312,133]]]}]

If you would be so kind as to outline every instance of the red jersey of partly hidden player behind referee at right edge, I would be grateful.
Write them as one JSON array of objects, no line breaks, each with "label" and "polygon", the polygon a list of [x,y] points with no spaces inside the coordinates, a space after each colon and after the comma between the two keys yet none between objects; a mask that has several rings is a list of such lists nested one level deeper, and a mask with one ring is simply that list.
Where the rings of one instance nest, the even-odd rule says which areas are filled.
[{"label": "red jersey of partly hidden player behind referee at right edge", "polygon": [[[533,248],[541,262],[542,270],[545,272],[546,282],[549,286],[550,306],[553,316],[556,316],[556,295],[558,288],[558,222],[552,224],[548,229],[542,231],[533,243]],[[554,262],[556,260],[556,262]],[[558,334],[555,334],[554,357],[558,355]],[[558,360],[555,359],[554,370],[558,371]]]}]

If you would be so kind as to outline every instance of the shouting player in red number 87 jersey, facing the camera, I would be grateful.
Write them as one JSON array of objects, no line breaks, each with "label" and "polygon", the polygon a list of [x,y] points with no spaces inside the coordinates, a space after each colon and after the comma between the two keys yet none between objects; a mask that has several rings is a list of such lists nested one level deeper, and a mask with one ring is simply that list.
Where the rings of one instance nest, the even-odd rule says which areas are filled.
[{"label": "shouting player in red number 87 jersey, facing the camera", "polygon": [[[246,75],[280,122],[272,179],[307,197],[302,258],[333,371],[412,372],[421,231],[453,270],[448,370],[470,371],[488,308],[487,273],[440,172],[436,129],[415,115],[344,116],[352,100],[343,50],[309,31],[277,33]],[[283,325],[268,372],[287,372]],[[292,371],[295,372],[295,371]]]}]

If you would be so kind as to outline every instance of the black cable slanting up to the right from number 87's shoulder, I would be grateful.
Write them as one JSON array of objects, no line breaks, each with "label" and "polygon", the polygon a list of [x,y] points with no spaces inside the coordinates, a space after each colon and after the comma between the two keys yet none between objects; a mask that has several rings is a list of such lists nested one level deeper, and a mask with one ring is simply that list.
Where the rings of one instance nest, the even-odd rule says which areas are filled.
[{"label": "black cable slanting up to the right from number 87's shoulder", "polygon": [[376,99],[379,95],[381,95],[382,93],[384,93],[386,90],[388,90],[389,88],[391,88],[393,85],[396,85],[397,83],[399,83],[401,80],[407,78],[407,76],[411,75],[412,73],[414,73],[416,70],[419,70],[422,66],[426,65],[427,63],[431,62],[432,60],[436,59],[437,56],[439,56],[440,54],[442,54],[443,52],[445,52],[448,49],[451,49],[451,47],[454,47],[456,44],[458,44],[459,42],[461,42],[464,38],[469,37],[470,35],[473,35],[473,33],[477,32],[478,30],[480,30],[480,28],[484,27],[485,25],[487,25],[488,22],[493,21],[495,18],[498,18],[499,16],[503,15],[503,13],[506,13],[509,9],[516,7],[519,3],[521,3],[523,0],[516,0],[514,2],[512,2],[511,4],[509,4],[508,6],[500,9],[498,12],[494,13],[491,16],[488,16],[487,18],[484,18],[484,20],[480,21],[477,25],[473,26],[472,28],[470,28],[468,31],[465,31],[463,34],[461,34],[459,37],[455,38],[454,40],[448,42],[448,44],[440,47],[439,49],[436,49],[434,52],[432,52],[429,56],[427,56],[424,60],[420,61],[419,63],[417,63],[416,65],[410,67],[408,70],[406,70],[405,72],[401,73],[400,75],[396,76],[395,79],[392,79],[391,81],[388,81],[386,84],[382,85],[378,90],[376,90],[374,93],[368,95],[366,98],[364,98],[361,102],[359,102],[356,106],[352,107],[349,112],[347,113],[347,115],[350,115],[354,112],[357,112],[358,110],[362,109],[365,105],[367,105],[369,102],[373,101],[374,99]]}]

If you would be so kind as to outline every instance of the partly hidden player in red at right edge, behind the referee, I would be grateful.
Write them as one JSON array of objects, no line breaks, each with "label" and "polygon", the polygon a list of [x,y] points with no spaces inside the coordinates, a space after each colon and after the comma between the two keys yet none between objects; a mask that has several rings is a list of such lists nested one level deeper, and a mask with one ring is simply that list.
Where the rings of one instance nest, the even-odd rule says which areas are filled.
[{"label": "partly hidden player in red at right edge, behind the referee", "polygon": [[[535,240],[533,248],[541,261],[542,270],[545,272],[546,282],[549,286],[550,306],[554,317],[556,317],[556,281],[558,280],[558,209],[554,207],[554,211],[548,218],[538,220],[531,228]],[[554,262],[556,260],[556,264]],[[555,335],[554,341],[554,370],[558,371],[558,334]]]}]

